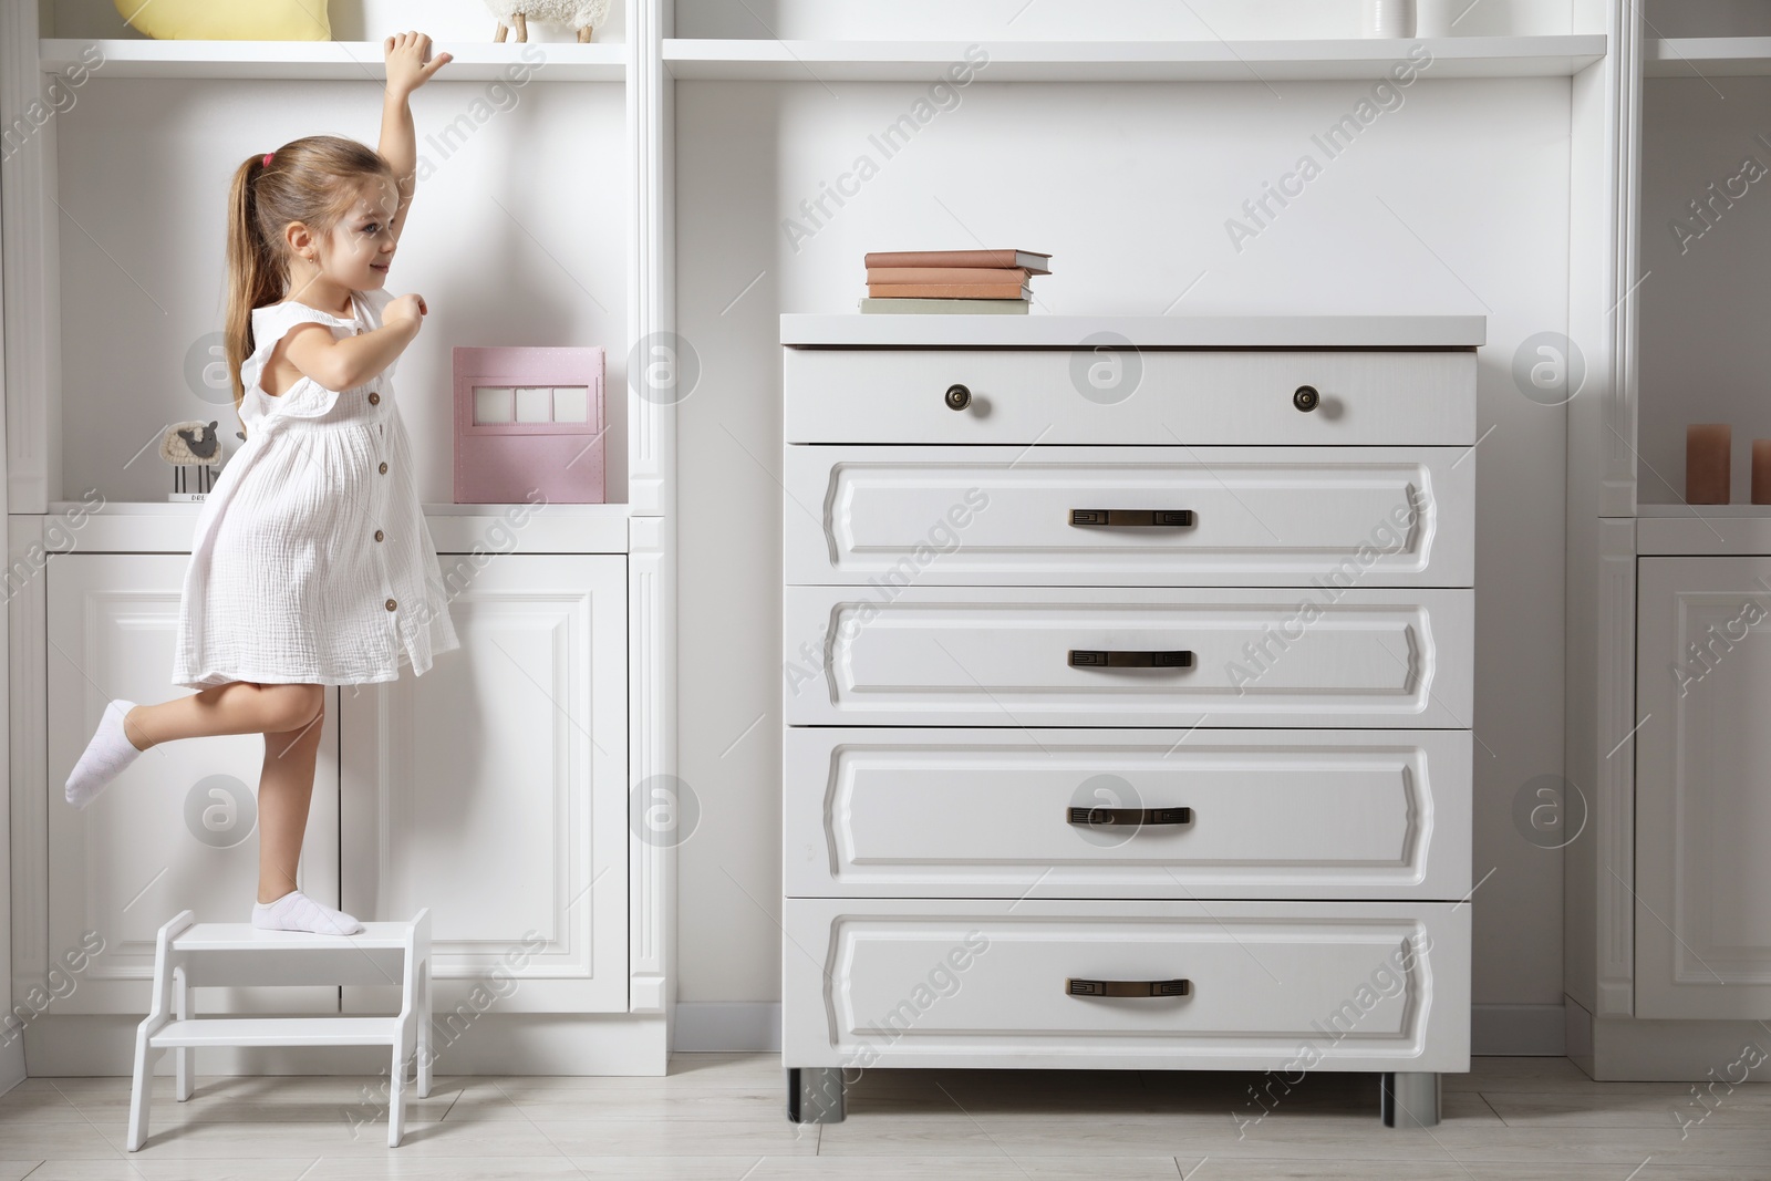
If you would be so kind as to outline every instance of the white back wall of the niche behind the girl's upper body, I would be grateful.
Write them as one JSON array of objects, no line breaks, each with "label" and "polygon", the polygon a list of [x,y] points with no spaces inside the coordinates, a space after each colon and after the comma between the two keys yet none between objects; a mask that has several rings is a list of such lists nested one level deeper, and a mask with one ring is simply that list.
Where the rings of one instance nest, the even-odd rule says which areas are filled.
[{"label": "white back wall of the niche behind the girl's upper body", "polygon": [[[604,345],[611,439],[627,420],[627,189],[622,87],[436,81],[413,96],[420,186],[388,289],[420,292],[425,329],[395,390],[418,494],[453,499],[455,345]],[[381,135],[381,83],[92,76],[55,120],[60,168],[62,496],[163,498],[170,469],[136,452],[170,421],[221,423],[232,395],[193,386],[218,343],[234,168],[305,135]],[[459,122],[455,135],[445,124]],[[425,166],[429,163],[429,168]],[[195,193],[195,197],[193,197]],[[220,370],[216,370],[220,374]],[[119,390],[128,391],[119,397]],[[609,499],[627,448],[607,446]]]}]

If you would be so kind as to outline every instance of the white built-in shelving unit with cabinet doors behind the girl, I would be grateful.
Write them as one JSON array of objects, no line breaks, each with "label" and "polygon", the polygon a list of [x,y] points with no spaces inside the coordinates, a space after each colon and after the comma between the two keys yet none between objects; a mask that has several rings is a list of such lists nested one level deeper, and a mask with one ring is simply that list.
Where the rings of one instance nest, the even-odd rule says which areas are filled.
[{"label": "white built-in shelving unit with cabinet doors behind the girl", "polygon": [[[395,266],[390,283],[432,303],[397,388],[464,652],[436,676],[331,696],[305,887],[331,905],[347,899],[365,919],[402,892],[436,901],[443,1007],[460,999],[452,992],[466,995],[471,981],[508,967],[501,942],[515,946],[510,931],[533,919],[547,935],[528,972],[514,972],[522,995],[501,999],[483,1022],[547,1023],[528,1059],[540,1069],[662,1073],[675,852],[630,839],[625,807],[632,784],[675,768],[675,405],[668,390],[641,397],[627,361],[671,329],[668,255],[659,250],[666,223],[653,200],[668,127],[661,11],[653,0],[618,7],[625,12],[592,44],[494,42],[483,11],[443,14],[418,0],[352,12],[368,28],[326,42],[151,41],[129,35],[108,4],[0,7],[0,115],[28,129],[9,138],[0,170],[9,556],[32,572],[9,597],[7,710],[23,738],[9,751],[12,825],[0,855],[12,922],[0,938],[0,976],[14,992],[48,970],[67,915],[103,915],[96,921],[117,951],[104,979],[64,1011],[140,1016],[151,979],[133,930],[149,921],[140,915],[158,921],[189,905],[205,917],[205,907],[221,907],[216,914],[227,917],[214,899],[227,898],[251,846],[227,857],[198,850],[197,862],[181,861],[124,915],[108,878],[66,873],[83,859],[115,871],[106,850],[119,839],[117,822],[60,813],[58,790],[51,797],[46,784],[64,760],[62,737],[83,724],[101,683],[113,694],[140,685],[124,694],[140,699],[172,696],[159,685],[168,604],[177,602],[202,506],[158,499],[168,480],[149,444],[168,421],[234,414],[211,375],[220,372],[227,186],[248,154],[301,135],[375,145],[379,21],[390,32],[432,32],[434,51],[452,55],[413,101],[421,197],[400,243],[409,262]],[[57,21],[83,35],[57,35]],[[57,97],[53,112],[44,96]],[[119,184],[119,175],[133,181]],[[103,347],[92,336],[99,328]],[[611,503],[436,503],[450,494],[457,343],[607,351]],[[225,453],[234,446],[225,434]],[[514,512],[524,513],[521,526],[508,521]],[[67,616],[74,597],[106,604],[97,609],[106,618]],[[124,629],[131,639],[110,627],[110,604],[122,600],[140,623]],[[69,618],[87,620],[73,625],[78,641],[57,630]],[[57,641],[66,641],[62,655]],[[46,676],[66,692],[44,698]],[[437,708],[453,719],[443,724],[448,733],[420,738],[416,719]],[[161,767],[152,800],[138,793],[147,825],[182,832],[174,797],[204,776],[250,783],[255,772],[239,747],[237,738],[193,745]],[[462,767],[448,784],[448,807],[462,816],[508,779],[524,784],[521,799],[498,802],[492,829],[505,825],[503,836],[475,850],[489,861],[468,869],[498,882],[492,901],[455,898],[439,869],[450,859],[407,823],[413,767],[427,758]],[[432,786],[436,768],[423,774]],[[340,807],[361,809],[347,830]],[[375,836],[352,845],[361,834]],[[312,1000],[299,988],[283,993],[259,1004]],[[374,993],[347,990],[342,1013],[372,1013]],[[250,1020],[257,1009],[241,1004],[230,997],[216,1007]],[[329,1004],[338,1011],[336,993]],[[97,1025],[74,1018],[48,1039],[34,1030],[32,1071],[55,1073],[73,1059],[117,1069],[112,1043],[90,1032]],[[459,1048],[459,1064],[473,1069],[473,1055],[498,1054],[501,1038],[482,1034]],[[16,1057],[23,1039],[14,1046]],[[264,1061],[282,1059],[216,1054],[218,1069]]]}]

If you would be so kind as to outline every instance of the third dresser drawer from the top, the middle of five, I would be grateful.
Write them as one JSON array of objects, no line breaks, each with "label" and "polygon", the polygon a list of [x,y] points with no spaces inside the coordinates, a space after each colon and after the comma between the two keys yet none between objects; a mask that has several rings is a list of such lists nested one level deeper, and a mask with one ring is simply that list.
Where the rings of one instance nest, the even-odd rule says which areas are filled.
[{"label": "third dresser drawer from the top, the middle of five", "polygon": [[790,726],[1470,724],[1470,590],[788,586],[783,600]]}]

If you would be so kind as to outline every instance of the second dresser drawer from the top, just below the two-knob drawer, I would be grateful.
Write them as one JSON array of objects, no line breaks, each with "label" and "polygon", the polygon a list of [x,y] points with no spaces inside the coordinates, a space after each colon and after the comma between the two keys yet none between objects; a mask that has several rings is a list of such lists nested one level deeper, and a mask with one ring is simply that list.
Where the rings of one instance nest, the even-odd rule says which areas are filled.
[{"label": "second dresser drawer from the top, just below the two-knob drawer", "polygon": [[1470,586],[1475,570],[1468,448],[790,446],[785,485],[786,581],[811,586]]}]

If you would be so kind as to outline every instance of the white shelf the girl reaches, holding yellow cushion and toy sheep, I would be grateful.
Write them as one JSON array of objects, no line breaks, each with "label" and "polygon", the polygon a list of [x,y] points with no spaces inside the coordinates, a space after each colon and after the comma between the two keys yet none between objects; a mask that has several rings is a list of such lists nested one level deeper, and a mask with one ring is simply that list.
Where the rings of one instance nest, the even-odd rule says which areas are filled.
[{"label": "white shelf the girl reaches, holding yellow cushion and toy sheep", "polygon": [[[384,81],[379,41],[74,41],[44,37],[37,42],[43,73],[85,67],[94,78],[241,78],[267,80],[363,80]],[[92,66],[87,50],[97,46],[103,62]],[[540,57],[522,57],[538,50]],[[432,53],[453,55],[439,81],[491,81],[507,78],[510,67],[528,71],[530,81],[622,81],[627,76],[625,44],[577,44],[530,41],[434,42]]]}]

